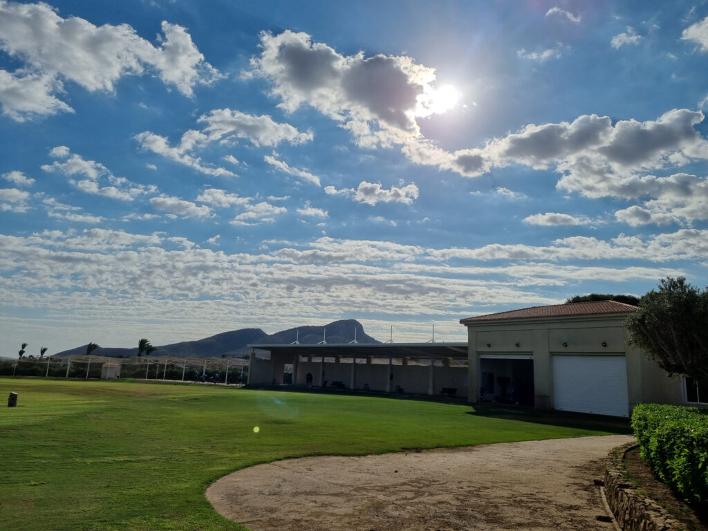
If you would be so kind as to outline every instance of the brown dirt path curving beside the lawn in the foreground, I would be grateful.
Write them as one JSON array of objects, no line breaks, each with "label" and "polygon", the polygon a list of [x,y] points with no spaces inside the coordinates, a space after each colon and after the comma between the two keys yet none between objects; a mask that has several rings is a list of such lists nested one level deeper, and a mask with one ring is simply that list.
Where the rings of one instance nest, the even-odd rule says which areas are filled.
[{"label": "brown dirt path curving beside the lawn in the foreground", "polygon": [[234,472],[206,494],[253,531],[612,531],[593,479],[607,452],[629,440],[288,459]]}]

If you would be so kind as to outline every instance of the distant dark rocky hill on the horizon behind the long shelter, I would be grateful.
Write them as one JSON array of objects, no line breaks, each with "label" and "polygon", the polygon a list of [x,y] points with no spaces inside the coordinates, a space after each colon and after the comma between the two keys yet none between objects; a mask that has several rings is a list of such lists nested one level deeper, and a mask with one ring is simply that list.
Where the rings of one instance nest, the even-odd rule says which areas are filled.
[{"label": "distant dark rocky hill on the horizon behind the long shelter", "polygon": [[[172,358],[218,358],[226,355],[228,358],[240,358],[251,352],[249,345],[287,345],[297,341],[303,344],[319,343],[324,338],[326,330],[327,343],[349,343],[356,340],[359,343],[380,343],[371,336],[367,336],[364,327],[355,319],[344,321],[334,321],[324,326],[298,326],[294,329],[287,329],[268,335],[261,329],[241,329],[230,332],[217,333],[197,341],[182,341],[181,343],[171,343],[170,345],[159,345],[150,357],[170,356]],[[135,343],[137,344],[136,338]],[[86,355],[86,345],[64,350],[55,356],[79,356]],[[114,348],[101,347],[94,350],[92,355],[110,356],[112,358],[130,358],[137,356],[137,346],[135,348]]]}]

